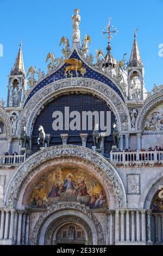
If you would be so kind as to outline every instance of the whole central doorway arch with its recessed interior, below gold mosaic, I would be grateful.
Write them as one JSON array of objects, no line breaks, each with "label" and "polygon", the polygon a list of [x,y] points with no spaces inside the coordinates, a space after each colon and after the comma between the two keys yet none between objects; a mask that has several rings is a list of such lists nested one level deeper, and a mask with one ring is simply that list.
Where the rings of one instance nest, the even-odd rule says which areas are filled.
[{"label": "whole central doorway arch with its recessed interior, below gold mosaic", "polygon": [[[64,236],[58,231],[65,225],[71,229],[73,227],[73,230],[66,234],[65,239],[60,237],[61,240],[58,240],[59,235]],[[79,235],[76,228],[83,233],[80,237],[76,237]],[[85,245],[103,245],[104,242],[101,224],[88,208],[78,203],[53,205],[36,222],[33,234],[33,245],[52,245],[64,240]]]}]

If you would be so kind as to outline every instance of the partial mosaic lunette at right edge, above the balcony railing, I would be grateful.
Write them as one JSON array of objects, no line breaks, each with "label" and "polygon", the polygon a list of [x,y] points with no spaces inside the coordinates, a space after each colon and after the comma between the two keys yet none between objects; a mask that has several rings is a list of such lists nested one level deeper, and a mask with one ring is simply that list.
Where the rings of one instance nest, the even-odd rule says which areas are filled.
[{"label": "partial mosaic lunette at right edge, above the balcony railing", "polygon": [[149,112],[143,123],[145,131],[163,131],[163,103]]}]

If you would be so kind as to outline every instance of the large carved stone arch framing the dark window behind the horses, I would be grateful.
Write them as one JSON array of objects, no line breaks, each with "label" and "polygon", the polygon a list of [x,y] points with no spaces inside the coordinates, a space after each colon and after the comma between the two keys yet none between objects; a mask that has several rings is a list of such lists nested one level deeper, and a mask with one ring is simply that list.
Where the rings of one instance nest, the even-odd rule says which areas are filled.
[{"label": "large carved stone arch framing the dark window behind the horses", "polygon": [[59,97],[68,92],[83,92],[95,95],[106,102],[114,112],[119,131],[127,131],[131,129],[130,115],[128,108],[121,97],[109,86],[102,82],[92,80],[90,78],[74,78],[77,81],[76,86],[72,86],[71,78],[66,78],[49,84],[42,88],[39,92],[28,101],[27,105],[21,113],[19,127],[26,126],[27,134],[32,133],[34,121],[42,110],[45,103],[52,101],[54,97]]}]

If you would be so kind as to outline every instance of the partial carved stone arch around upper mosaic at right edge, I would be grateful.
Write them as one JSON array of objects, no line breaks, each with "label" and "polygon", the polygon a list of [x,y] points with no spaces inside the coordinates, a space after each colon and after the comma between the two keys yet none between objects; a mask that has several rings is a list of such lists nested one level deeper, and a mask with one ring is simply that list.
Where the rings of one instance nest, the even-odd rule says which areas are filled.
[{"label": "partial carved stone arch around upper mosaic at right edge", "polygon": [[145,120],[148,113],[162,102],[163,102],[163,90],[160,93],[157,93],[146,100],[145,106],[141,109],[136,119],[137,130],[142,131],[143,121]]}]

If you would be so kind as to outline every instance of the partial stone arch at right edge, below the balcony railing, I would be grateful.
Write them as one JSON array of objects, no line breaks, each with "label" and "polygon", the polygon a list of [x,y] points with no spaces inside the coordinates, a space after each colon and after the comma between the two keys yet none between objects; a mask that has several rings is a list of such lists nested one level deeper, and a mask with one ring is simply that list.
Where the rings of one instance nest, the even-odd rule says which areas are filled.
[{"label": "partial stone arch at right edge, below the balcony railing", "polygon": [[159,186],[163,184],[163,173],[159,173],[154,178],[148,181],[148,184],[144,188],[140,201],[139,209],[151,209],[151,204],[156,192],[159,190]]}]

